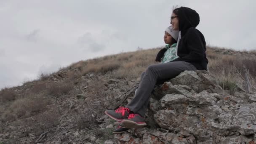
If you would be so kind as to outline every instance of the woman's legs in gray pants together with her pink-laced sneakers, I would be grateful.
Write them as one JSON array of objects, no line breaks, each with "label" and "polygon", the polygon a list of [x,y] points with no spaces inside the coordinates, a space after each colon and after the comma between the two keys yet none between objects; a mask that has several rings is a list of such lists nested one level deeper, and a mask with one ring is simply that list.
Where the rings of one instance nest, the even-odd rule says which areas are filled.
[{"label": "woman's legs in gray pants together with her pink-laced sneakers", "polygon": [[[145,125],[143,117],[147,111],[150,93],[153,91],[157,80],[171,79],[185,70],[196,70],[196,68],[184,61],[150,65],[146,72],[141,74],[142,79],[133,100],[126,107],[106,110],[105,114],[114,120],[122,121],[121,124],[125,124],[123,122],[127,122],[125,120],[128,118],[128,122],[134,122],[139,126]],[[125,128],[133,128],[133,125],[129,127],[129,124],[131,123],[128,123]]]}]

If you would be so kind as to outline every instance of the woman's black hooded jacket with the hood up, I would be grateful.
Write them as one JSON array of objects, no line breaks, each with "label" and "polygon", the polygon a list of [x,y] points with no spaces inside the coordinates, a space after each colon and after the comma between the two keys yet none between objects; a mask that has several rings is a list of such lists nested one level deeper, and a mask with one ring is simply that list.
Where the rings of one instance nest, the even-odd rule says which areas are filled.
[{"label": "woman's black hooded jacket with the hood up", "polygon": [[179,41],[177,55],[179,58],[173,61],[186,61],[193,64],[198,70],[207,70],[206,44],[203,34],[195,27],[199,24],[199,14],[187,7],[177,8],[179,18]]}]

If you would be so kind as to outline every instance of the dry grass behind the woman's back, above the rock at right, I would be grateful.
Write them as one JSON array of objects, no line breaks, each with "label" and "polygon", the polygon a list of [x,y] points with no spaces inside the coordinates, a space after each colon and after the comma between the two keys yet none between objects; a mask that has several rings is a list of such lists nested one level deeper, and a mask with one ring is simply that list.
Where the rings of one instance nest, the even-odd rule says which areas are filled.
[{"label": "dry grass behind the woman's back, above the rock at right", "polygon": [[219,80],[221,87],[224,86],[224,89],[229,89],[231,94],[235,93],[238,86],[243,88],[245,69],[248,70],[251,84],[255,87],[255,56],[241,56],[239,52],[232,52],[231,50],[225,54],[215,53],[215,51],[219,50],[216,48],[208,48],[207,50],[208,69]]}]

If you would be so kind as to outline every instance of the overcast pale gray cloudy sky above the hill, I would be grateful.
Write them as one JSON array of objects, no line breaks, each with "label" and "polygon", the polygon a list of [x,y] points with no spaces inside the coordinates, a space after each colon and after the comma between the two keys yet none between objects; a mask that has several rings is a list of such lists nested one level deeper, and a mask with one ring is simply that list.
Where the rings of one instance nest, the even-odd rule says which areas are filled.
[{"label": "overcast pale gray cloudy sky above the hill", "polygon": [[255,0],[0,0],[0,88],[73,62],[164,45],[173,6],[209,45],[256,49]]}]

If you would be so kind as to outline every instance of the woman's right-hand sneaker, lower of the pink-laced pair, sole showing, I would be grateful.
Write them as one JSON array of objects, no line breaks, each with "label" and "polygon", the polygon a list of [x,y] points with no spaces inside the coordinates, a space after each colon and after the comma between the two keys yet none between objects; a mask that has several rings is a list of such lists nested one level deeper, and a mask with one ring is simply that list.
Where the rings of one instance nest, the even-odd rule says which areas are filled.
[{"label": "woman's right-hand sneaker, lower of the pink-laced pair, sole showing", "polygon": [[130,114],[128,119],[122,120],[120,124],[123,128],[142,128],[146,125],[145,118],[138,114]]}]

